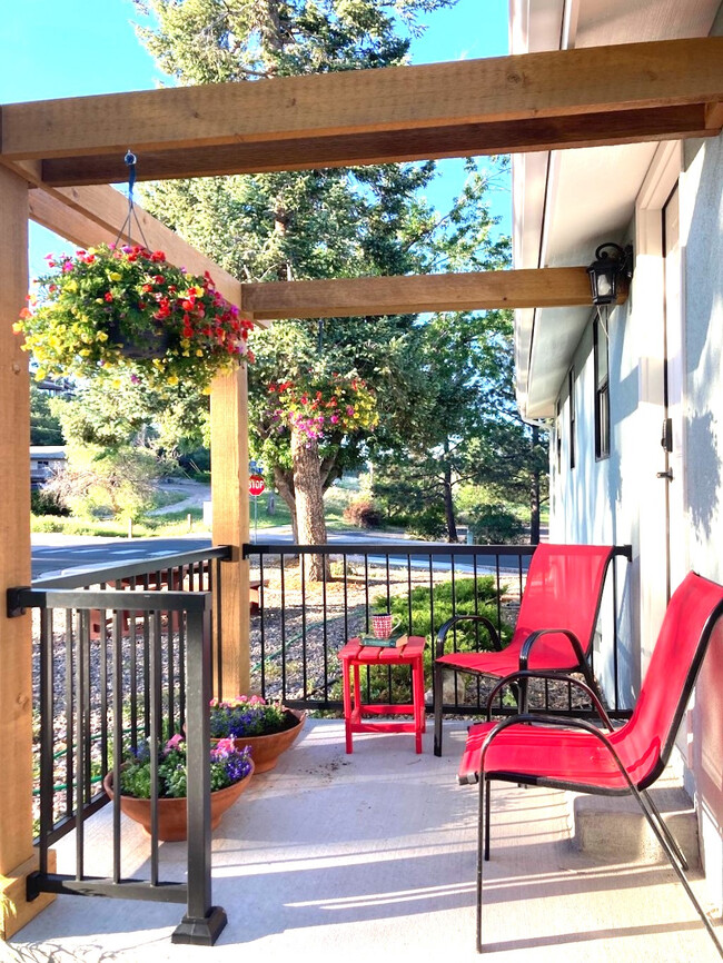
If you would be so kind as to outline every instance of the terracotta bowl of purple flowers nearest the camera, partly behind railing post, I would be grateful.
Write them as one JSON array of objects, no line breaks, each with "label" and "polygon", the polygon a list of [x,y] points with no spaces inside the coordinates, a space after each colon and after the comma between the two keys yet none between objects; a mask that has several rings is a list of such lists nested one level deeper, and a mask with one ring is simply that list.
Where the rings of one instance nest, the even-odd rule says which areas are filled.
[{"label": "terracotta bowl of purple flowers nearest the camera, partly behind railing post", "polygon": [[[219,739],[211,746],[211,830],[221,815],[248,787],[254,762],[247,747],[238,748],[230,739]],[[150,835],[150,762],[149,742],[130,749],[120,770],[120,808],[140,823]],[[103,788],[113,798],[113,774],[107,773]],[[188,825],[186,741],[175,735],[158,754],[158,838],[166,842],[185,840]]]}]

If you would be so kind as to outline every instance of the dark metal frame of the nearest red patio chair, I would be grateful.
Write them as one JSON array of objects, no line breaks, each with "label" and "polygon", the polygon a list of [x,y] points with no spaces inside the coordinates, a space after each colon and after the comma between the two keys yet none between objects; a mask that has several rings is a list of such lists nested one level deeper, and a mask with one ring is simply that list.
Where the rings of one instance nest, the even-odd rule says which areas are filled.
[{"label": "dark metal frame of the nearest red patio chair", "polygon": [[[700,578],[700,576],[696,576]],[[689,576],[690,578],[690,576]],[[721,592],[723,593],[723,587],[719,586]],[[691,903],[695,907],[699,916],[701,917],[707,933],[710,934],[713,943],[715,944],[715,949],[717,950],[721,957],[723,957],[723,944],[719,939],[717,933],[711,920],[706,915],[705,911],[701,906],[695,893],[693,892],[691,884],[686,876],[687,861],[685,856],[675,841],[672,832],[666,825],[665,821],[661,816],[660,812],[655,807],[652,798],[647,793],[647,788],[660,777],[661,773],[664,771],[665,765],[670,758],[670,755],[673,751],[673,746],[675,744],[675,737],[677,735],[677,731],[680,728],[681,722],[683,719],[685,707],[690,701],[693,687],[695,685],[695,681],[697,678],[697,674],[700,672],[701,665],[703,663],[703,658],[707,651],[707,646],[711,639],[711,635],[713,633],[713,628],[719,621],[719,618],[723,615],[723,597],[717,602],[717,604],[712,608],[710,614],[707,615],[703,628],[701,631],[699,641],[695,646],[695,652],[690,663],[690,668],[687,671],[687,675],[685,678],[685,683],[682,687],[680,696],[676,701],[675,711],[673,717],[671,719],[671,724],[667,729],[667,735],[665,742],[662,744],[660,753],[657,755],[655,765],[650,771],[650,773],[642,778],[640,782],[635,782],[633,780],[625,767],[625,764],[621,760],[618,752],[616,751],[613,743],[610,741],[607,735],[602,732],[596,725],[586,719],[580,718],[566,718],[563,722],[558,717],[541,715],[537,713],[519,713],[515,716],[509,716],[502,722],[498,722],[486,735],[484,743],[479,749],[479,762],[478,766],[475,766],[475,771],[473,773],[466,773],[460,775],[459,782],[463,784],[469,784],[477,782],[479,784],[479,815],[478,815],[478,824],[477,824],[477,913],[476,913],[476,945],[477,952],[483,952],[483,943],[482,943],[482,911],[483,911],[483,866],[484,862],[489,860],[489,836],[491,836],[491,783],[493,780],[498,780],[502,782],[513,782],[518,785],[536,785],[536,786],[549,786],[553,788],[562,788],[570,790],[573,792],[583,792],[591,795],[626,795],[630,793],[633,798],[637,802],[645,820],[647,821],[655,838],[660,843],[663,852],[667,856],[667,860],[675,872],[680,883],[685,890]],[[505,678],[501,679],[497,685],[494,687],[491,693],[487,702],[487,718],[491,719],[492,713],[492,701],[495,695],[505,686],[509,685],[514,682],[527,681],[529,678],[545,678],[545,677],[554,677],[559,678],[557,673],[544,673],[544,672],[534,672],[534,671],[523,671],[517,673],[512,673]],[[588,697],[591,698],[593,705],[597,709],[602,723],[606,726],[608,732],[615,732],[611,724],[611,721],[605,712],[605,708],[602,705],[602,702],[597,698],[596,693],[588,686],[586,683],[581,682],[580,679],[570,678],[570,682],[578,686],[583,689]],[[485,762],[487,757],[487,753],[489,751],[491,745],[494,743],[495,738],[511,726],[514,725],[529,725],[529,726],[544,726],[544,727],[555,727],[557,729],[578,729],[585,733],[588,733],[595,739],[601,742],[606,751],[610,753],[611,758],[617,766],[623,781],[626,785],[626,788],[605,788],[605,787],[595,787],[590,783],[583,782],[574,782],[568,780],[558,780],[558,778],[548,778],[544,775],[536,775],[534,772],[518,772],[518,771],[509,771],[503,772],[495,770],[489,773],[485,768]],[[617,732],[624,729],[630,723],[625,723]],[[471,735],[468,739],[473,737],[475,727],[471,728]],[[478,736],[477,736],[478,737]]]}]

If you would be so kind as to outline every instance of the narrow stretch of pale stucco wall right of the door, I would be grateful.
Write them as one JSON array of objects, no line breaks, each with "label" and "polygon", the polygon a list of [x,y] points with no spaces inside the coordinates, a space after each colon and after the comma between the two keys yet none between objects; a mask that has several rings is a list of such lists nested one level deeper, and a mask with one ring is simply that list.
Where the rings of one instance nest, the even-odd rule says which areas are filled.
[{"label": "narrow stretch of pale stucco wall right of the door", "polygon": [[[686,443],[690,566],[723,582],[723,138],[685,147]],[[706,877],[723,903],[723,633],[692,708],[689,748]]]}]

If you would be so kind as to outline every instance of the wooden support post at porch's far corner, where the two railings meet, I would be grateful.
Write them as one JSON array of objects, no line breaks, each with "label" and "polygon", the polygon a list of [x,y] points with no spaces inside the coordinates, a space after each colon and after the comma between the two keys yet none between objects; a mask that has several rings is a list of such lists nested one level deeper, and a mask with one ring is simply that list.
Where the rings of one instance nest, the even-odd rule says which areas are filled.
[{"label": "wooden support post at porch's far corner, where the two railings meet", "polygon": [[211,500],[214,545],[230,545],[221,569],[221,692],[248,693],[250,618],[248,562],[241,546],[249,540],[248,393],[246,363],[211,385]]}]

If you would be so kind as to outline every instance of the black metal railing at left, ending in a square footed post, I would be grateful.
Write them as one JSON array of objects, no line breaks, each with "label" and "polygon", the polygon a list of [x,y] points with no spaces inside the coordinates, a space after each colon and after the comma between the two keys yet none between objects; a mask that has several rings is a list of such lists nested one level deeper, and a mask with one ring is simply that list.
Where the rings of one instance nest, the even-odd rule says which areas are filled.
[{"label": "black metal railing at left, ending in a square footed post", "polygon": [[[220,672],[220,563],[228,557],[225,547],[184,553],[42,578],[9,593],[9,615],[32,609],[34,623],[40,863],[29,880],[30,899],[52,892],[185,902],[175,942],[212,943],[222,929],[225,914],[210,904],[208,702]],[[145,741],[156,746],[184,728],[195,773],[188,781],[188,882],[159,878],[153,830],[149,878],[121,876],[118,793],[112,871],[88,875],[86,822],[109,802],[103,775],[112,773],[117,786],[125,748]],[[155,810],[157,793],[156,784]],[[49,872],[50,846],[71,831],[72,872]]]}]

